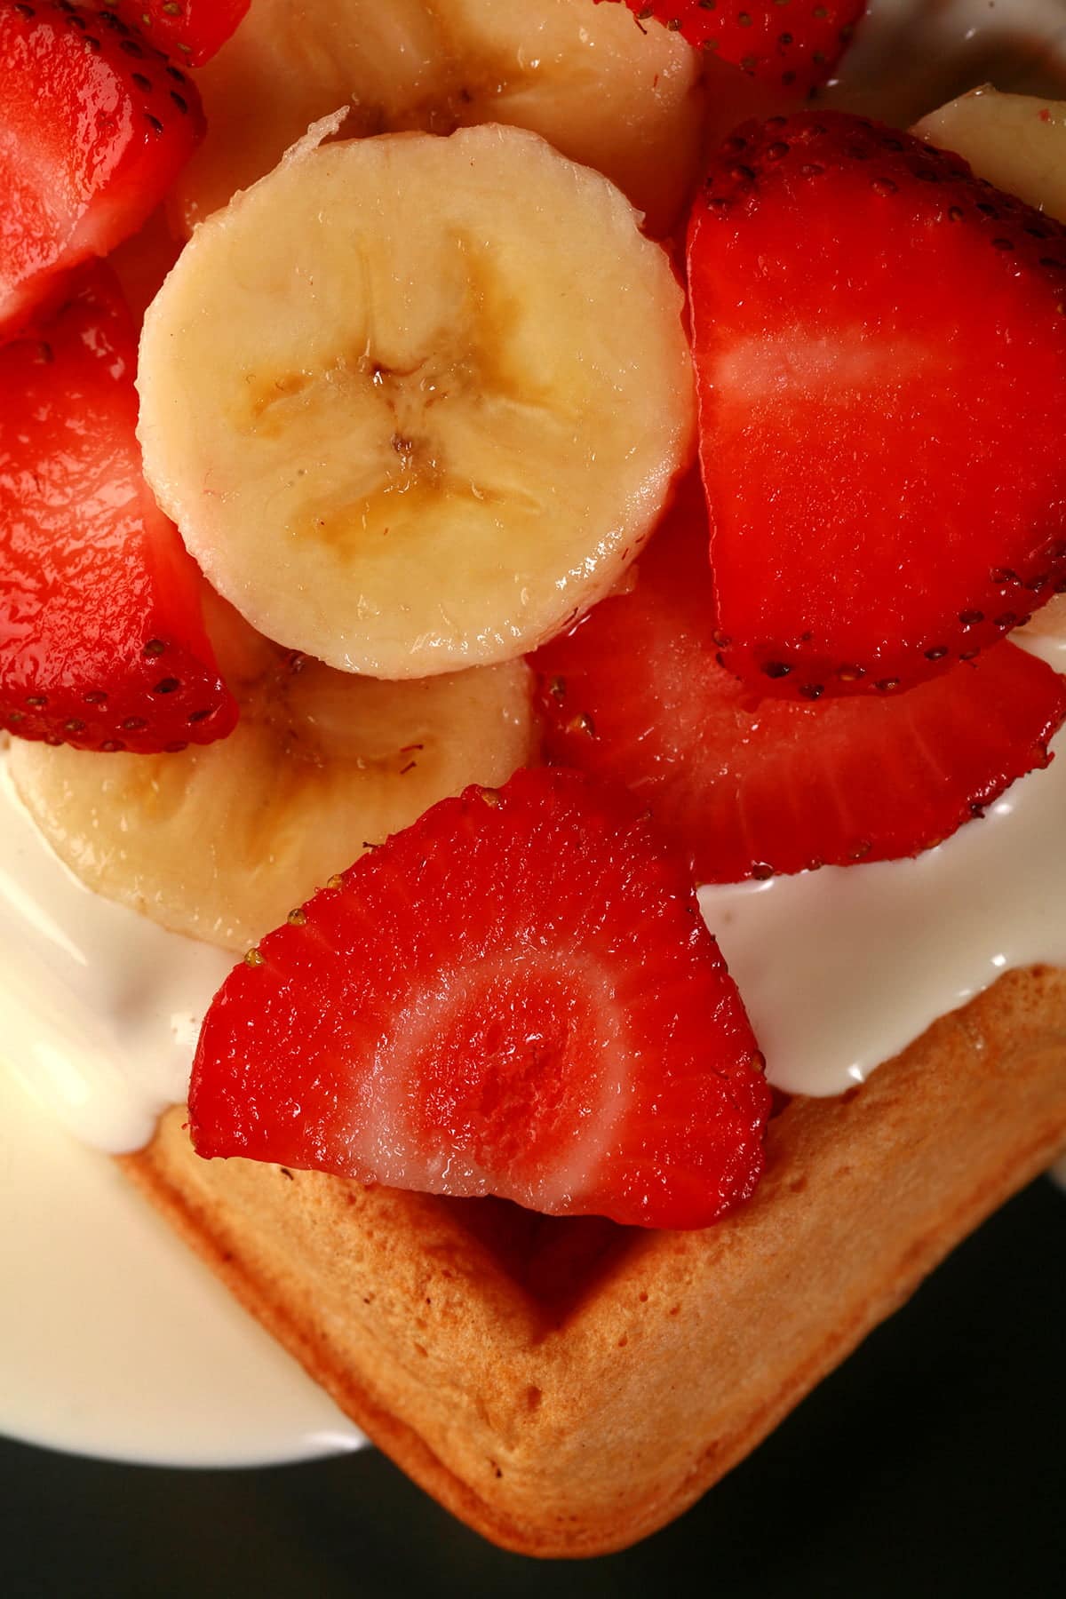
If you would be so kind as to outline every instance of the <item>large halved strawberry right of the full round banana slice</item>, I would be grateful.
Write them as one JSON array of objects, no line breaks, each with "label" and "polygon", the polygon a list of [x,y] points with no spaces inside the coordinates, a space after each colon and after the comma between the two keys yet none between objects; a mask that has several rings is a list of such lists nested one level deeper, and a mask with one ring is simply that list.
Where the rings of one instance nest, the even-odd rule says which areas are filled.
[{"label": "large halved strawberry right of the full round banana slice", "polygon": [[1066,582],[1066,229],[841,114],[745,125],[689,235],[726,665],[892,692]]}]

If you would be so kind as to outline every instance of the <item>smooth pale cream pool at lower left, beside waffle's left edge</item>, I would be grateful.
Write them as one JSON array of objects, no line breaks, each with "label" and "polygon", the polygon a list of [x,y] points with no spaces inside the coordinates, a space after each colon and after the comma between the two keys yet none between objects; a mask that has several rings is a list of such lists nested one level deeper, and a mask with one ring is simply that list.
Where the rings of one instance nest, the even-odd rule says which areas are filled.
[{"label": "smooth pale cream pool at lower left, beside waffle's left edge", "polygon": [[75,1142],[3,1065],[0,1191],[0,1431],[174,1466],[363,1442],[115,1162]]}]

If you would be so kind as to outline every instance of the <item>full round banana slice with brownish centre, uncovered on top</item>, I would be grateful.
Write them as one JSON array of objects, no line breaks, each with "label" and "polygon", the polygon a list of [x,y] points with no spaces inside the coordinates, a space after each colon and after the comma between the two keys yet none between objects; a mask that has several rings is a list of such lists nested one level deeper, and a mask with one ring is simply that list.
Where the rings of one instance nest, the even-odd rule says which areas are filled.
[{"label": "full round banana slice with brownish centre, uncovered on top", "polygon": [[382,678],[510,660],[690,459],[681,313],[630,203],[537,134],[312,138],[149,309],[145,472],[268,638]]}]

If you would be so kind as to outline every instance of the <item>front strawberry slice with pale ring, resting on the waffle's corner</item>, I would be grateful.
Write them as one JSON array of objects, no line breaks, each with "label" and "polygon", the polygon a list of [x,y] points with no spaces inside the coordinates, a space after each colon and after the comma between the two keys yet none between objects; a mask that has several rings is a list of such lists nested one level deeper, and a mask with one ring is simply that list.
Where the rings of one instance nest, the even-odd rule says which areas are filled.
[{"label": "front strawberry slice with pale ring, resting on the waffle's corner", "polygon": [[200,1154],[706,1226],[770,1094],[684,868],[622,790],[519,771],[444,800],[227,979]]}]

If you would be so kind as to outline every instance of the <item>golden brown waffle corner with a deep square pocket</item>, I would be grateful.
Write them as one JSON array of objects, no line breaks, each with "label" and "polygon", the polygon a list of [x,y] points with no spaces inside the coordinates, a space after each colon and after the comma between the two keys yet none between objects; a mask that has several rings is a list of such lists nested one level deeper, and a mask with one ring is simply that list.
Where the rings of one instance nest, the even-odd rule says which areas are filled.
[{"label": "golden brown waffle corner with a deep square pocket", "polygon": [[526,1554],[679,1514],[1066,1146],[1066,972],[1012,972],[841,1099],[788,1102],[705,1233],[200,1161],[123,1166],[422,1487]]}]

